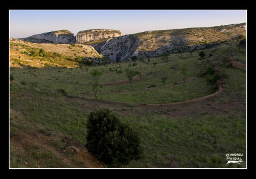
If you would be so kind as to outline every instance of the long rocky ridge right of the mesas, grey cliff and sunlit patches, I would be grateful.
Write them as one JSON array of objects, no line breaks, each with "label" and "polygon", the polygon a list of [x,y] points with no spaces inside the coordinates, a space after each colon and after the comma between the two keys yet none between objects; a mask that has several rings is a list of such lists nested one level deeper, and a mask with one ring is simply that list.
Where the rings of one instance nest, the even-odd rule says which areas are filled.
[{"label": "long rocky ridge right of the mesas, grey cliff and sunlit patches", "polygon": [[111,38],[92,45],[100,54],[113,61],[152,58],[175,52],[189,52],[211,47],[227,40],[246,36],[246,24],[197,27],[163,31],[147,31]]}]

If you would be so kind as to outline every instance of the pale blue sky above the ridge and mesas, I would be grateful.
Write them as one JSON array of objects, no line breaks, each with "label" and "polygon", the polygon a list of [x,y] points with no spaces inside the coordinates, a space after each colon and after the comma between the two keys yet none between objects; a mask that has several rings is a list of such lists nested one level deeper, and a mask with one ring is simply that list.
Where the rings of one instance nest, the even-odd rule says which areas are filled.
[{"label": "pale blue sky above the ridge and mesas", "polygon": [[10,38],[67,29],[143,31],[211,27],[247,22],[246,10],[10,10]]}]

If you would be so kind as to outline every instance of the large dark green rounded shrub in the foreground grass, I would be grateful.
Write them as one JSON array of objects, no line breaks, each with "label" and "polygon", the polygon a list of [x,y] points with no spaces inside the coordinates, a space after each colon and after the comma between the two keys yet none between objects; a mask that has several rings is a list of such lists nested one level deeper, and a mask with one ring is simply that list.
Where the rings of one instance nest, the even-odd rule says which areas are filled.
[{"label": "large dark green rounded shrub in the foreground grass", "polygon": [[140,137],[109,109],[92,111],[87,123],[86,148],[108,165],[120,167],[140,159]]}]

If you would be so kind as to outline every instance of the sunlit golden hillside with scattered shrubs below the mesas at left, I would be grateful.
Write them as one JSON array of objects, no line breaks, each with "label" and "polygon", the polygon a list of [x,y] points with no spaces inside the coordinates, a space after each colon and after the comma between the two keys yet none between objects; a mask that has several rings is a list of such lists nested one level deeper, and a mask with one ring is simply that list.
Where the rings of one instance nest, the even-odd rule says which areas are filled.
[{"label": "sunlit golden hillside with scattered shrubs below the mesas at left", "polygon": [[[49,56],[32,56],[31,52],[44,49]],[[10,38],[10,66],[30,65],[34,67],[51,66],[77,66],[82,61],[77,57],[103,61],[103,56],[90,45],[71,45],[54,43],[32,43],[24,40]],[[49,63],[50,62],[50,63]]]}]

